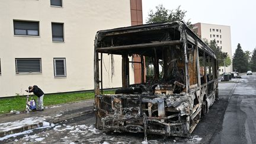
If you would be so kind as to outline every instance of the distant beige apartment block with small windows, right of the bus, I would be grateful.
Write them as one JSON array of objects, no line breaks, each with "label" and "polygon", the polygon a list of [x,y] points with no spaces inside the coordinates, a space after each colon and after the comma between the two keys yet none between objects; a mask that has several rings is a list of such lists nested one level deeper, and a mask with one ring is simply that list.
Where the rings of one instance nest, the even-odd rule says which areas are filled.
[{"label": "distant beige apartment block with small windows, right of the bus", "polygon": [[[216,40],[217,46],[222,48],[222,52],[228,53],[232,60],[232,47],[231,47],[231,27],[228,25],[217,24],[194,24],[193,30],[198,34],[201,39]],[[231,66],[219,68],[219,73],[232,72]]]}]

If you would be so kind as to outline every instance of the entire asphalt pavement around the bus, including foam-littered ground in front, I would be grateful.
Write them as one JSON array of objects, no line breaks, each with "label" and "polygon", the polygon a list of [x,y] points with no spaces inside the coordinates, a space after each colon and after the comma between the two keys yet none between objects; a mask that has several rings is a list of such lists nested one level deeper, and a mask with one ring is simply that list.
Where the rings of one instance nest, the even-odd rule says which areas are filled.
[{"label": "entire asphalt pavement around the bus, including foam-littered ground in front", "polygon": [[[219,83],[219,101],[210,107],[190,138],[150,135],[149,143],[256,143],[256,75]],[[142,143],[143,134],[102,133],[94,114],[12,137],[5,143]]]}]

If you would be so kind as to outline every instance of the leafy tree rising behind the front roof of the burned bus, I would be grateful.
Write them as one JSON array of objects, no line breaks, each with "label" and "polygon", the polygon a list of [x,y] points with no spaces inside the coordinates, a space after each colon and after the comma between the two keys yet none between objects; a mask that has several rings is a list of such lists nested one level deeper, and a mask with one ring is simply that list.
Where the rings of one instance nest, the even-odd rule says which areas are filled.
[{"label": "leafy tree rising behind the front roof of the burned bus", "polygon": [[[181,6],[176,8],[175,10],[165,9],[165,7],[161,4],[156,6],[156,11],[152,9],[149,11],[148,20],[146,20],[147,24],[151,23],[162,23],[162,22],[172,22],[172,21],[184,21],[185,13],[187,11],[181,10]],[[188,27],[192,28],[193,24],[188,20],[186,22]]]}]

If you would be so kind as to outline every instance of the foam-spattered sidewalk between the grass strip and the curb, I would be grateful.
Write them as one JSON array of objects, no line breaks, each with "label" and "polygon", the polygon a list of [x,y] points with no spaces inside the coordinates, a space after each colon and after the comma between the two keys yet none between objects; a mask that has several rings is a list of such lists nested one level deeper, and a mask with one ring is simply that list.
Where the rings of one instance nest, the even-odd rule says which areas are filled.
[{"label": "foam-spattered sidewalk between the grass strip and the curb", "polygon": [[[0,115],[0,141],[4,136],[37,127],[49,127],[59,121],[73,119],[93,111],[94,100],[52,105],[44,111]],[[25,105],[24,105],[25,109]]]}]

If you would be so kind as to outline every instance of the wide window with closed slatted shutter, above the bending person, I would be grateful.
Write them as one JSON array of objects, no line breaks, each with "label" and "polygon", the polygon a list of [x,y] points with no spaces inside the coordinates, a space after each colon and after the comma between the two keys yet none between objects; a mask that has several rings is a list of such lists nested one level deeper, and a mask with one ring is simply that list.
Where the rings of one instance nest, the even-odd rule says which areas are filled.
[{"label": "wide window with closed slatted shutter, above the bending person", "polygon": [[41,58],[16,58],[16,74],[41,73]]}]

